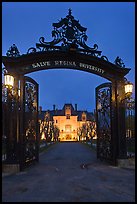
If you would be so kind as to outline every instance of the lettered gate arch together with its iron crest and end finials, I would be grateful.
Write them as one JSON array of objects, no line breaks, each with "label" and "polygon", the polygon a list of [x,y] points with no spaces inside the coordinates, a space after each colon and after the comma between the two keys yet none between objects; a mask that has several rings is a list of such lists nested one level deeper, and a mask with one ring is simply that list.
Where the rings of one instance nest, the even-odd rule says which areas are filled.
[{"label": "lettered gate arch together with its iron crest and end finials", "polygon": [[10,47],[7,56],[2,57],[8,72],[27,74],[49,68],[70,68],[112,80],[114,77],[124,77],[130,71],[125,68],[121,58],[117,57],[111,63],[106,56],[101,55],[97,44],[92,48],[86,44],[87,28],[75,20],[71,9],[65,18],[52,25],[52,41],[46,42],[44,37],[40,37],[36,47],[29,48],[22,55],[15,44]]}]

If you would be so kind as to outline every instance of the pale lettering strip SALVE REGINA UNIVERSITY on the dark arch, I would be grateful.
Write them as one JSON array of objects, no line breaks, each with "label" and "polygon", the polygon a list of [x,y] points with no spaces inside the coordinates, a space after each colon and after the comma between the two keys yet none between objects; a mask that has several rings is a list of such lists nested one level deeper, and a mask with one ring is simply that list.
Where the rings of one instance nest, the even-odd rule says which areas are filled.
[{"label": "pale lettering strip SALVE REGINA UNIVERSITY on the dark arch", "polygon": [[[68,68],[82,68],[82,70],[85,71],[93,71],[93,72],[97,72],[100,74],[104,73],[104,70],[93,66],[93,65],[89,65],[89,64],[85,64],[85,63],[79,63],[79,62],[75,62],[75,61],[42,61],[42,62],[37,62],[37,63],[33,63],[31,65],[31,67],[29,67],[29,69],[41,69],[41,68],[54,68],[54,67],[68,67]],[[28,69],[28,68],[27,68]]]}]

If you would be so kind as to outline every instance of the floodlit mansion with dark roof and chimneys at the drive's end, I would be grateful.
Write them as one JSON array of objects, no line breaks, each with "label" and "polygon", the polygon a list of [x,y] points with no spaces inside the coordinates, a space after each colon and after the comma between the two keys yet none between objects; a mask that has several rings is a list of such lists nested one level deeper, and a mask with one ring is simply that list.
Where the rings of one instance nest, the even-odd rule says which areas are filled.
[{"label": "floodlit mansion with dark roof and chimneys at the drive's end", "polygon": [[[58,129],[59,141],[80,141],[96,137],[94,114],[77,110],[77,104],[75,104],[75,108],[72,104],[65,104],[61,110],[56,109],[55,105],[53,110],[40,110],[39,122],[42,139],[43,137],[46,139],[47,127],[51,125]],[[50,130],[50,127],[48,129]]]}]

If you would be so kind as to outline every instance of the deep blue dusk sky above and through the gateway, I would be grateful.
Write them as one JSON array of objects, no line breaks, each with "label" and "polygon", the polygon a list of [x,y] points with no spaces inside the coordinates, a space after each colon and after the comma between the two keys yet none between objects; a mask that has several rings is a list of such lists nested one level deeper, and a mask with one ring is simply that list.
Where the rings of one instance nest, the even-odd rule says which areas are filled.
[{"label": "deep blue dusk sky above and through the gateway", "polygon": [[[52,41],[52,23],[66,17],[69,8],[87,28],[87,45],[97,44],[112,63],[119,56],[131,68],[126,77],[135,84],[134,2],[3,2],[2,55],[13,43],[21,54],[26,54],[40,37]],[[43,70],[29,76],[39,83],[39,105],[43,109],[77,103],[78,109],[92,111],[96,86],[107,82],[97,75],[69,69]]]}]

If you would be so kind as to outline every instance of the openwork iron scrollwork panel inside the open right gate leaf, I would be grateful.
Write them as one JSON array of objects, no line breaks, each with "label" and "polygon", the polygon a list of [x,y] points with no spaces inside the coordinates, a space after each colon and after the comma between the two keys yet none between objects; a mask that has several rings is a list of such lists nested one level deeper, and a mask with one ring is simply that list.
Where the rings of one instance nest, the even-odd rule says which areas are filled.
[{"label": "openwork iron scrollwork panel inside the open right gate leaf", "polygon": [[111,146],[111,88],[103,87],[97,92],[98,157],[112,159]]}]

